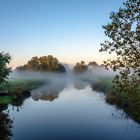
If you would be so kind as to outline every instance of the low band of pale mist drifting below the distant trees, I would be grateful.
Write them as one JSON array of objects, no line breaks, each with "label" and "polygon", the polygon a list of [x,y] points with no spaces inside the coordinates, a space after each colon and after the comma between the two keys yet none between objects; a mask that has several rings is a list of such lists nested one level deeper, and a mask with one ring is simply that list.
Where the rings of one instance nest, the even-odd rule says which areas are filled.
[{"label": "low band of pale mist drifting below the distant trees", "polygon": [[71,83],[75,80],[87,79],[93,81],[95,78],[100,77],[114,77],[117,74],[112,70],[106,70],[101,67],[89,66],[88,70],[81,74],[74,74],[72,68],[67,68],[66,73],[53,73],[53,72],[30,72],[30,71],[12,71],[9,75],[9,80],[44,80],[52,83]]}]

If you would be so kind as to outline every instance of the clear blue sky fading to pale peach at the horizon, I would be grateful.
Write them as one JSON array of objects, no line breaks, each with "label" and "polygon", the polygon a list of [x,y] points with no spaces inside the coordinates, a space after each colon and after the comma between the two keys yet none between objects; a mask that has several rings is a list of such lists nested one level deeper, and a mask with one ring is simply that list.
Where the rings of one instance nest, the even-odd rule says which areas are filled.
[{"label": "clear blue sky fading to pale peach at the horizon", "polygon": [[102,25],[124,0],[0,0],[0,51],[11,66],[32,56],[53,55],[61,62],[102,61]]}]

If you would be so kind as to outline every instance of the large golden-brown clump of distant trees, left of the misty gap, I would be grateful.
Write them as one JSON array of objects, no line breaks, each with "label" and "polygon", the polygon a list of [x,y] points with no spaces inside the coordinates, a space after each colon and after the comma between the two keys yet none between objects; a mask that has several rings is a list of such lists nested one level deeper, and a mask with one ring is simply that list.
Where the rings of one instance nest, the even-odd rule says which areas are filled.
[{"label": "large golden-brown clump of distant trees, left of the misty gap", "polygon": [[17,70],[66,72],[65,67],[52,55],[32,57],[26,65],[19,66]]}]

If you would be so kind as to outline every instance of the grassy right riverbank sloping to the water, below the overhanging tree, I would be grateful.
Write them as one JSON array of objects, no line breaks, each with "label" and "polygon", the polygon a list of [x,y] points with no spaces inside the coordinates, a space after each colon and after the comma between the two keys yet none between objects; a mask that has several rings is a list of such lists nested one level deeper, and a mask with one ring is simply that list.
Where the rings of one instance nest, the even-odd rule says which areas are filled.
[{"label": "grassy right riverbank sloping to the water, below the overhanging tree", "polygon": [[93,90],[106,94],[106,102],[123,109],[131,118],[140,123],[140,87],[137,93],[112,93],[112,78],[101,78],[92,84]]}]

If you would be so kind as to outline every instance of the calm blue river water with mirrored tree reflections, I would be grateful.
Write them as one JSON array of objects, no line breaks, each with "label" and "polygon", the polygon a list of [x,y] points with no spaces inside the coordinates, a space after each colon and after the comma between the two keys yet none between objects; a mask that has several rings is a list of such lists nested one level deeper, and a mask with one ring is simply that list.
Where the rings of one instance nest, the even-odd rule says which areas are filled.
[{"label": "calm blue river water with mirrored tree reflections", "polygon": [[48,85],[9,106],[12,140],[140,140],[140,126],[87,84]]}]

